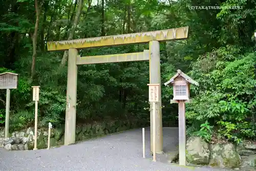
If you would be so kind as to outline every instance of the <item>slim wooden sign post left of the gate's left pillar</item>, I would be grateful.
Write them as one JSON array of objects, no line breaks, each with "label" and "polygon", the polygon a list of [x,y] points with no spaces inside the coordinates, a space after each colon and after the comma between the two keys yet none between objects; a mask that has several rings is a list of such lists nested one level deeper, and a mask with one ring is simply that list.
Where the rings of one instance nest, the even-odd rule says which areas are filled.
[{"label": "slim wooden sign post left of the gate's left pillar", "polygon": [[37,111],[38,111],[40,86],[32,86],[32,88],[33,88],[33,101],[35,101],[35,143],[34,143],[34,150],[35,150],[37,149]]}]

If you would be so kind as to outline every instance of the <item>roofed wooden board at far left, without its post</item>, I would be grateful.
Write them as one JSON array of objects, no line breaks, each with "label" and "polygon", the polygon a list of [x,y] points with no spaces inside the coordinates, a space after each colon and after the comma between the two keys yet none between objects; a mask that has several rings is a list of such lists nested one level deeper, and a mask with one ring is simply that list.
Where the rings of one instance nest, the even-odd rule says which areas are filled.
[{"label": "roofed wooden board at far left, without its post", "polygon": [[17,89],[18,74],[5,72],[0,74],[0,89]]}]

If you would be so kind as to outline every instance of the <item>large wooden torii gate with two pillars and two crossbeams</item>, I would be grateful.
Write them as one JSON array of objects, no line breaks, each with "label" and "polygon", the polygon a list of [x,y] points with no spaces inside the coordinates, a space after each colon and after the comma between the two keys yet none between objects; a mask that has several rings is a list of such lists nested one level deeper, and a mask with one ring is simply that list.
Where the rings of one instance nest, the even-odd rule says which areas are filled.
[{"label": "large wooden torii gate with two pillars and two crossbeams", "polygon": [[[123,61],[150,61],[150,83],[159,83],[159,96],[161,97],[160,75],[160,48],[159,41],[185,39],[188,37],[188,27],[158,30],[141,33],[121,34],[74,40],[49,41],[48,51],[69,50],[67,106],[65,119],[65,145],[75,143],[76,132],[76,94],[77,94],[77,65]],[[77,49],[126,45],[149,42],[149,50],[137,53],[101,55],[80,57]],[[152,103],[150,104],[152,108]],[[162,133],[162,102],[156,103],[156,153],[163,153]],[[151,121],[151,151],[153,151],[153,112],[150,112]]]}]

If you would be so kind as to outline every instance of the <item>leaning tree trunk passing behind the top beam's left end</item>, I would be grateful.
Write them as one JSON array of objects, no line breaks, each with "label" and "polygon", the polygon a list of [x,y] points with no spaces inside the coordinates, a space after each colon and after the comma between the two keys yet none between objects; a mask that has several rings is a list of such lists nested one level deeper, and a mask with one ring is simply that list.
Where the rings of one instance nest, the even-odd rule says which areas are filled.
[{"label": "leaning tree trunk passing behind the top beam's left end", "polygon": [[[73,23],[71,32],[69,33],[69,38],[68,38],[68,40],[72,39],[73,36],[74,36],[75,30],[76,30],[76,26],[77,26],[78,20],[79,20],[79,18],[80,18],[81,9],[82,9],[82,7],[83,7],[83,1],[84,1],[84,0],[80,0],[80,1],[79,1],[79,5],[78,5],[77,11],[76,11],[76,16],[75,16],[75,18],[74,18],[74,23]],[[67,58],[68,58],[68,51],[65,51],[64,54],[63,54],[63,57],[62,57],[62,59],[61,59],[60,67],[65,66],[66,61],[67,61]]]}]

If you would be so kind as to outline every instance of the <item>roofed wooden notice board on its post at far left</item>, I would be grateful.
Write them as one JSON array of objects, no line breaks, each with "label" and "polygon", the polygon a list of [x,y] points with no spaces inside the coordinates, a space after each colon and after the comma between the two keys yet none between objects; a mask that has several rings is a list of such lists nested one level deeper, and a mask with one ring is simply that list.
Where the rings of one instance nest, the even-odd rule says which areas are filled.
[{"label": "roofed wooden notice board on its post at far left", "polygon": [[18,74],[5,72],[0,74],[0,89],[6,90],[6,111],[5,111],[5,138],[9,135],[10,120],[10,89],[17,89]]}]

